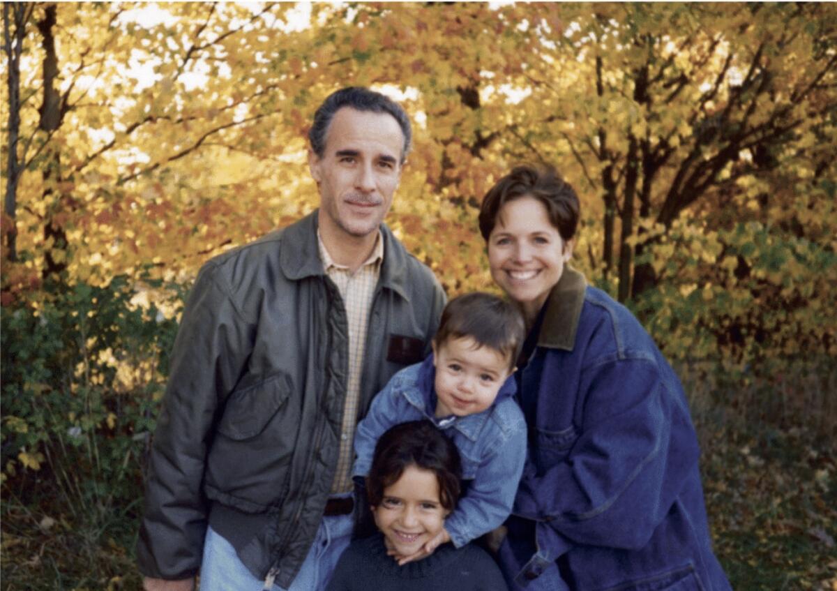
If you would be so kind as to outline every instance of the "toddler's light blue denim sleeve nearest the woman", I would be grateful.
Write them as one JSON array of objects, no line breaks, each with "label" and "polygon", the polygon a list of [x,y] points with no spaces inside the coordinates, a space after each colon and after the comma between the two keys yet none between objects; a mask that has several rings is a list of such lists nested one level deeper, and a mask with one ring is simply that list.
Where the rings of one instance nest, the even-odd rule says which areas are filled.
[{"label": "toddler's light blue denim sleeve nearest the woman", "polygon": [[474,480],[456,509],[444,522],[455,547],[490,532],[506,521],[515,501],[526,459],[526,421],[517,404],[509,399],[505,410],[511,414],[508,429],[482,448],[487,455],[480,462]]}]

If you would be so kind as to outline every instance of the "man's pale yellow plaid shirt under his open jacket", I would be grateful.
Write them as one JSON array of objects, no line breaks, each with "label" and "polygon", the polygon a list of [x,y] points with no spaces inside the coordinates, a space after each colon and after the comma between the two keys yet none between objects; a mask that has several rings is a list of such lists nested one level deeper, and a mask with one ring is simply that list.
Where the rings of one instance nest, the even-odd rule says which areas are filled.
[{"label": "man's pale yellow plaid shirt under his open jacket", "polygon": [[340,455],[337,458],[337,470],[331,484],[333,494],[352,491],[352,462],[354,461],[355,428],[357,427],[357,402],[360,398],[363,352],[366,349],[369,310],[372,307],[372,295],[375,294],[378,276],[381,275],[383,262],[383,237],[378,230],[375,247],[369,258],[355,271],[347,266],[337,265],[326,250],[319,230],[317,242],[320,246],[320,259],[326,275],[334,281],[343,304],[349,325],[349,378],[346,387],[346,404],[343,407],[343,425],[340,436]]}]

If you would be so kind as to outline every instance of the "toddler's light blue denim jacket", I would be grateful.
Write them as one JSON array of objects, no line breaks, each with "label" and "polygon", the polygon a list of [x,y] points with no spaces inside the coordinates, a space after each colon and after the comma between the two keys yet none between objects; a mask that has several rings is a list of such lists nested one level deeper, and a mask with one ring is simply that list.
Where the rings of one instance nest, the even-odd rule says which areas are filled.
[{"label": "toddler's light blue denim jacket", "polygon": [[[436,393],[433,355],[396,373],[372,399],[366,417],[357,424],[352,476],[365,476],[372,467],[377,438],[399,423],[429,419],[434,424]],[[526,422],[514,398],[516,383],[503,383],[489,409],[439,425],[460,450],[465,495],[444,520],[454,546],[462,547],[490,532],[509,516],[526,458]]]}]

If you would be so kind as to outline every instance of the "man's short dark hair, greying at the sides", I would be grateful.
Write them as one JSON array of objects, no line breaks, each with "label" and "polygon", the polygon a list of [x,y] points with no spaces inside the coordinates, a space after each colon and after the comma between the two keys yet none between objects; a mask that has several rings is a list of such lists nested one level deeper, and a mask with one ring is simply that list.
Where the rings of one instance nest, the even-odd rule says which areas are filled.
[{"label": "man's short dark hair, greying at the sides", "polygon": [[407,153],[410,151],[410,142],[413,140],[413,130],[410,127],[407,113],[404,112],[401,105],[398,105],[388,96],[361,86],[348,86],[331,93],[322,102],[320,108],[316,110],[314,124],[308,131],[308,139],[311,141],[311,150],[318,157],[323,157],[326,152],[326,135],[328,134],[328,127],[331,126],[331,120],[334,119],[336,112],[344,106],[354,110],[372,111],[372,113],[388,113],[395,117],[395,121],[398,121],[398,126],[401,127],[401,133],[404,136],[404,146],[401,150],[401,163],[404,163],[407,159]]}]

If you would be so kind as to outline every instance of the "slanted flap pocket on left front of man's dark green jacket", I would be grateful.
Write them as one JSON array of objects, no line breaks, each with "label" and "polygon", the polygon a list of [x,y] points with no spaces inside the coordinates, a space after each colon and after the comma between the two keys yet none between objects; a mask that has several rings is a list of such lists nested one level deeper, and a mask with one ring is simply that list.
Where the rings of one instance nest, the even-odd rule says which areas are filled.
[{"label": "slanted flap pocket on left front of man's dark green jacket", "polygon": [[255,437],[290,396],[290,377],[279,373],[262,383],[233,393],[223,409],[218,433],[230,439]]}]

